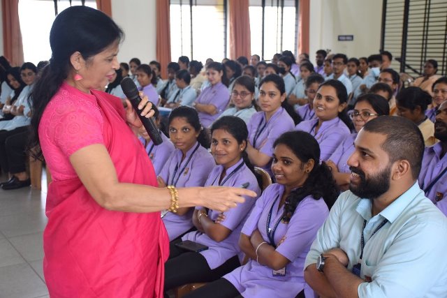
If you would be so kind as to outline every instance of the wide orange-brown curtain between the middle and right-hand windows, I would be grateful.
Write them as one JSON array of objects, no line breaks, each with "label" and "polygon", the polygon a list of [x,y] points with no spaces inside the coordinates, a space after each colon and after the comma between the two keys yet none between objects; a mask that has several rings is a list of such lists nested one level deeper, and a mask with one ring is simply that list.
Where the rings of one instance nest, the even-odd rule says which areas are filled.
[{"label": "wide orange-brown curtain between the middle and right-hand windows", "polygon": [[230,59],[251,56],[249,0],[230,0]]}]

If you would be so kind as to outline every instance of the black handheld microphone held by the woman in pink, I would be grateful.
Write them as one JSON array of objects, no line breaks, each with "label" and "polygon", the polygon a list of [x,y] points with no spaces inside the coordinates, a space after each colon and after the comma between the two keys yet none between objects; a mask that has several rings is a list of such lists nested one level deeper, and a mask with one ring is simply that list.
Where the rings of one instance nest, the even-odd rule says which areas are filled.
[{"label": "black handheld microphone held by the woman in pink", "polygon": [[[133,80],[130,77],[124,77],[124,79],[121,81],[121,88],[123,89],[126,97],[129,98],[129,100],[131,101],[133,109],[137,112],[138,118],[140,118],[142,125],[145,126],[152,142],[154,142],[154,144],[156,145],[161,144],[163,140],[161,139],[159,128],[157,128],[154,124],[154,120],[141,116],[142,110],[138,109],[138,104],[140,103],[142,98],[140,97],[137,86],[135,85]],[[152,110],[154,110],[153,107]]]}]

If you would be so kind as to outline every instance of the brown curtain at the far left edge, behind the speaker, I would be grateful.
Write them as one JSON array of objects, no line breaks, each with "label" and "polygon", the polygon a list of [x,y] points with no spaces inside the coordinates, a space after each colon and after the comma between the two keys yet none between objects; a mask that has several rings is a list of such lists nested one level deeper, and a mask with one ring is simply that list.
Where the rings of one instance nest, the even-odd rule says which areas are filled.
[{"label": "brown curtain at the far left edge, behind the speaker", "polygon": [[11,66],[22,66],[23,44],[19,22],[19,0],[1,0],[3,17],[3,56]]}]

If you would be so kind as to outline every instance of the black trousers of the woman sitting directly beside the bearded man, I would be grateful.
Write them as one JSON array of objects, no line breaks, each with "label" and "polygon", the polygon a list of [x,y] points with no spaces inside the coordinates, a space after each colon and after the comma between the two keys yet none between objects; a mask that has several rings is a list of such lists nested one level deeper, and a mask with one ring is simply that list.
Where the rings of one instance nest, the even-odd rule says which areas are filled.
[{"label": "black trousers of the woman sitting directly beside the bearded man", "polygon": [[197,290],[193,290],[184,295],[184,298],[239,298],[242,297],[233,283],[225,278],[219,278],[217,281],[207,283]]}]

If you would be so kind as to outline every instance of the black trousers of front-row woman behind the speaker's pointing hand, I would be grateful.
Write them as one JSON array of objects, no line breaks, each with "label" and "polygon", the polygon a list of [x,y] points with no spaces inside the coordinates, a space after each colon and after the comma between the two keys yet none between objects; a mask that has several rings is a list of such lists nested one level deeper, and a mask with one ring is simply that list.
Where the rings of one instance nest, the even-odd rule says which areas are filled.
[{"label": "black trousers of front-row woman behind the speaker's pointing hand", "polygon": [[235,255],[219,267],[210,269],[203,255],[184,251],[182,248],[175,246],[175,242],[172,241],[170,243],[170,257],[165,264],[165,291],[186,283],[215,281],[239,266],[239,258]]}]

